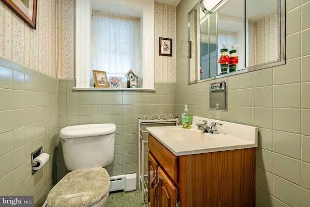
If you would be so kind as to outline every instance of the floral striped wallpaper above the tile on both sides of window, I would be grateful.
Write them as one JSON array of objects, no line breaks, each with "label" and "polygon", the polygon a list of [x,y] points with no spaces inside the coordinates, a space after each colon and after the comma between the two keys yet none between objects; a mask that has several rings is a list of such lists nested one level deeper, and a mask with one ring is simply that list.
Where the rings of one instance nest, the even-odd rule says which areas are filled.
[{"label": "floral striped wallpaper above the tile on both sides of window", "polygon": [[[0,2],[0,56],[55,78],[75,78],[75,0],[37,1],[36,30]],[[176,7],[155,3],[155,81],[175,82]],[[159,37],[172,57],[159,56]]]}]

